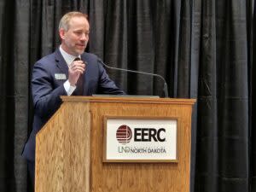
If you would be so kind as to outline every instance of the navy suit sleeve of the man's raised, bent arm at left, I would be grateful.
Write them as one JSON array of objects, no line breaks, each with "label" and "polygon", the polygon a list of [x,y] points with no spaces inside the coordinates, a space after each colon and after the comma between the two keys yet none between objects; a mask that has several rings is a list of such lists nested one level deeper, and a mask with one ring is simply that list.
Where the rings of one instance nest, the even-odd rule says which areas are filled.
[{"label": "navy suit sleeve of the man's raised, bent arm at left", "polygon": [[32,97],[34,111],[41,117],[49,117],[61,106],[60,96],[67,96],[63,84],[55,85],[54,75],[44,64],[37,62],[32,73]]}]

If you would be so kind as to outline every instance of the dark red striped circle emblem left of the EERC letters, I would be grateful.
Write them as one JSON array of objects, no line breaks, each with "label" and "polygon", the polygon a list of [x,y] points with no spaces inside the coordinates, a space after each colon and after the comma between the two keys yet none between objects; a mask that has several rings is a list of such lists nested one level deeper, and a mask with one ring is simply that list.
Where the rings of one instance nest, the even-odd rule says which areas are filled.
[{"label": "dark red striped circle emblem left of the EERC letters", "polygon": [[131,128],[127,125],[120,125],[116,131],[116,139],[121,144],[126,144],[131,141],[132,132]]}]

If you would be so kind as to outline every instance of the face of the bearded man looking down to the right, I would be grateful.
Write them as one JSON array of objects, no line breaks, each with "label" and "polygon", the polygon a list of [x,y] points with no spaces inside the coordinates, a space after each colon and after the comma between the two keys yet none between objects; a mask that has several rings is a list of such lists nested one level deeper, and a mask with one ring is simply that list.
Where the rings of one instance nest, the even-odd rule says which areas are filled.
[{"label": "face of the bearded man looking down to the right", "polygon": [[60,29],[61,48],[70,55],[81,55],[89,40],[89,23],[84,17],[73,17],[67,31]]}]

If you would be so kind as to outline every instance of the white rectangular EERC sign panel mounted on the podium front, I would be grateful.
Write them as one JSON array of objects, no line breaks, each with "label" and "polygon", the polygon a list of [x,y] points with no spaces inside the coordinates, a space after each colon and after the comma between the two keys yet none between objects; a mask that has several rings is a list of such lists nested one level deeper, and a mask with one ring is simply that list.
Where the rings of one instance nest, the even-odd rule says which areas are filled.
[{"label": "white rectangular EERC sign panel mounted on the podium front", "polygon": [[177,160],[177,119],[107,119],[106,161]]}]

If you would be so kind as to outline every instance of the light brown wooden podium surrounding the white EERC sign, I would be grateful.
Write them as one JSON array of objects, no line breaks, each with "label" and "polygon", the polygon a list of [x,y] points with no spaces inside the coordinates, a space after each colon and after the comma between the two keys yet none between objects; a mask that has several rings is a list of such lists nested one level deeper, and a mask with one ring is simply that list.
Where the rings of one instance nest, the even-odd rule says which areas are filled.
[{"label": "light brown wooden podium surrounding the white EERC sign", "polygon": [[[36,137],[36,192],[189,192],[195,99],[61,96]],[[104,118],[177,119],[177,162],[103,162]]]}]

